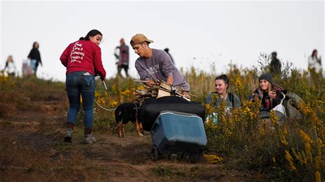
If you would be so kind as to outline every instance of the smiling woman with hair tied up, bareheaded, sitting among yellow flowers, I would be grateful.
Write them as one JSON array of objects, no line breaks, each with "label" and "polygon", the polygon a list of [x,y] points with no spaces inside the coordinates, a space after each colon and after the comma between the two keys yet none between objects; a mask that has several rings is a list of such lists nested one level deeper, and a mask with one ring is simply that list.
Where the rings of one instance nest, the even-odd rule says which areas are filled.
[{"label": "smiling woman with hair tied up, bareheaded, sitting among yellow flowers", "polygon": [[[220,75],[215,78],[215,90],[216,92],[211,92],[206,96],[206,103],[213,104],[213,107],[217,107],[221,101],[226,102],[226,107],[230,109],[230,112],[232,109],[240,107],[241,106],[241,100],[239,97],[235,94],[232,94],[228,92],[229,88],[229,79],[227,75]],[[217,101],[213,101],[213,95],[217,94],[218,99]]]}]

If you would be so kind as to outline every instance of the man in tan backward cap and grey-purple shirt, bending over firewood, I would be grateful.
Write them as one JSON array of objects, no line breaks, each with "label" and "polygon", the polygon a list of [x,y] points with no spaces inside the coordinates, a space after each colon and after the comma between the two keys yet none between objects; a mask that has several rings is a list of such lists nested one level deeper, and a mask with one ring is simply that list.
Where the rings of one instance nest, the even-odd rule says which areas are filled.
[{"label": "man in tan backward cap and grey-purple shirt, bending over firewood", "polygon": [[[152,42],[154,41],[147,39],[143,34],[136,34],[130,41],[134,53],[139,55],[135,67],[140,79],[149,83],[163,80],[172,86],[180,86],[189,91],[189,83],[186,83],[183,75],[173,65],[171,57],[164,50],[151,49],[149,44]],[[146,84],[150,86],[149,83]]]}]

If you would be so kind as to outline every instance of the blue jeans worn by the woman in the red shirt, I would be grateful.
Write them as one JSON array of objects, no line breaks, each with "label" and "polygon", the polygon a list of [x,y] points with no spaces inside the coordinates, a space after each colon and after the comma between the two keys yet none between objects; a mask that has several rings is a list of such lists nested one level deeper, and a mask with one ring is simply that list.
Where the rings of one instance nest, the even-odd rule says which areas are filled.
[{"label": "blue jeans worn by the woman in the red shirt", "polygon": [[86,71],[69,73],[66,79],[66,87],[70,104],[67,122],[76,124],[77,114],[80,110],[80,94],[82,94],[84,127],[93,128],[95,77]]}]

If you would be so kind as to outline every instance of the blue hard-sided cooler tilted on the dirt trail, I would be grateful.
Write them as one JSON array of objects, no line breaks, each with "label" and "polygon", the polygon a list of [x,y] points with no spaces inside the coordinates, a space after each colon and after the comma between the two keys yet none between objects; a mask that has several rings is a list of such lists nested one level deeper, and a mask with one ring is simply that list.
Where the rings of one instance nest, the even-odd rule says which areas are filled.
[{"label": "blue hard-sided cooler tilted on the dirt trail", "polygon": [[152,159],[162,154],[202,155],[207,140],[203,120],[196,114],[163,111],[152,126]]}]

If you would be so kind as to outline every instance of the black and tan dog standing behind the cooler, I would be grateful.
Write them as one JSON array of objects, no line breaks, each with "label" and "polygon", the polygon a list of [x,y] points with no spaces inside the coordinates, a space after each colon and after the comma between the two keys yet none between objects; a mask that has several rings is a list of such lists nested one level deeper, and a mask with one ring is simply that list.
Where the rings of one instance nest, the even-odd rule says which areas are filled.
[{"label": "black and tan dog standing behind the cooler", "polygon": [[122,103],[117,106],[115,110],[115,120],[117,122],[117,135],[120,138],[124,138],[124,125],[128,124],[129,121],[136,125],[136,132],[138,135],[143,135],[142,124],[138,121],[138,114],[140,111],[141,103],[134,101],[133,103]]}]

